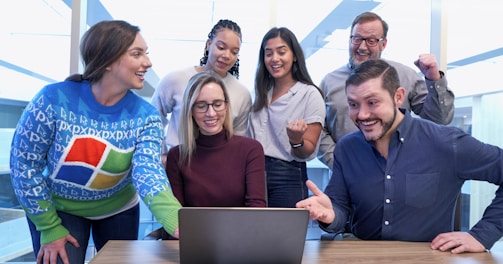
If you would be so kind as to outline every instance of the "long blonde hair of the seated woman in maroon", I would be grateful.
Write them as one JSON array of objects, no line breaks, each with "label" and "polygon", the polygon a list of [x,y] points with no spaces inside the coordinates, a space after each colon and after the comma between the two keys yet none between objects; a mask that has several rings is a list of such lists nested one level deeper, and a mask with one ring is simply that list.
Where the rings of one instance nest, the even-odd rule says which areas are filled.
[{"label": "long blonde hair of the seated woman in maroon", "polygon": [[232,128],[231,119],[231,104],[224,81],[216,73],[203,71],[192,76],[187,83],[187,88],[183,95],[182,111],[180,113],[180,126],[178,127],[178,137],[180,145],[180,160],[179,166],[187,163],[190,166],[192,153],[196,149],[196,139],[199,136],[199,127],[192,115],[192,107],[196,102],[197,97],[201,93],[201,88],[208,83],[216,83],[220,85],[224,93],[224,99],[227,101],[227,113],[224,119],[224,129],[228,131],[229,137],[232,137],[234,130]]}]

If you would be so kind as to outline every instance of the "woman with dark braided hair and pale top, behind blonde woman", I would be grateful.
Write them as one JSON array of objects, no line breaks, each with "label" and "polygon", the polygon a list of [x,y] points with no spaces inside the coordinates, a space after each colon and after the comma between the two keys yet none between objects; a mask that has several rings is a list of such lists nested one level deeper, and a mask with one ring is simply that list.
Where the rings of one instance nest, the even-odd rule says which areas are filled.
[{"label": "woman with dark braided hair and pale top, behind blonde woman", "polygon": [[[221,19],[208,34],[200,65],[168,73],[162,78],[152,97],[152,104],[161,113],[164,127],[168,127],[162,146],[164,163],[168,150],[179,144],[177,131],[183,93],[189,79],[198,72],[212,71],[222,77],[233,106],[234,134],[246,135],[251,94],[238,80],[241,41],[241,28],[231,20]],[[169,119],[168,114],[171,114]]]}]

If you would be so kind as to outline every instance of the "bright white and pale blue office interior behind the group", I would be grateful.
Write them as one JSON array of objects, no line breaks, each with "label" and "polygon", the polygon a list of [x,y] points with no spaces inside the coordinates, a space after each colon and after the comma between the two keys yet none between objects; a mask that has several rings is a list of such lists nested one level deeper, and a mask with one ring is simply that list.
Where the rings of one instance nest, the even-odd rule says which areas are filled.
[{"label": "bright white and pale blue office interior behind the group", "polygon": [[[259,45],[268,29],[284,26],[296,34],[311,77],[319,83],[347,63],[353,18],[373,11],[390,26],[383,58],[417,70],[413,61],[419,54],[435,54],[456,95],[450,126],[503,147],[503,35],[494,28],[500,16],[496,4],[492,0],[6,1],[0,16],[0,262],[25,262],[23,256],[31,250],[26,219],[10,185],[14,127],[44,85],[82,72],[78,41],[90,25],[122,19],[140,26],[153,67],[138,93],[150,100],[165,74],[199,64],[207,35],[219,19],[234,20],[241,27],[239,79],[253,93]],[[309,162],[308,174],[322,186],[330,177],[318,160]],[[487,183],[465,184],[463,229],[480,219],[495,190]],[[140,239],[158,226],[145,207],[141,225]],[[319,239],[321,231],[314,223],[309,229],[306,239]]]}]

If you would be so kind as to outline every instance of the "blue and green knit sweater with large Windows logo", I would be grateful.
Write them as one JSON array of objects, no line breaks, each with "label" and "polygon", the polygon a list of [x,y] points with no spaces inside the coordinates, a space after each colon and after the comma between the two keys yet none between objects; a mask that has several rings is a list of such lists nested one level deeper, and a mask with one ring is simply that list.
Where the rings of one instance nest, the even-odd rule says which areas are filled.
[{"label": "blue and green knit sweater with large Windows logo", "polygon": [[10,156],[12,184],[41,242],[68,234],[56,210],[105,216],[136,193],[172,232],[180,204],[160,161],[162,138],[158,111],[131,91],[104,106],[88,82],[44,87],[19,120]]}]

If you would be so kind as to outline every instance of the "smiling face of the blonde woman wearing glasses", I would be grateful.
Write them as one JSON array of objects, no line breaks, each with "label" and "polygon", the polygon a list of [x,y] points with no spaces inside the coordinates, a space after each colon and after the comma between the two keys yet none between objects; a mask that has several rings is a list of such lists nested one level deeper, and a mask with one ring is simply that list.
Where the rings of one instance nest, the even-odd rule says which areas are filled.
[{"label": "smiling face of the blonde woman wearing glasses", "polygon": [[[227,107],[225,106],[221,111],[215,111],[215,108],[219,109],[216,104],[222,103],[222,101],[225,101],[225,95],[219,84],[210,82],[201,87],[201,91],[192,107],[192,116],[201,134],[209,136],[222,131],[225,116],[227,115]],[[204,105],[204,103],[215,104],[215,106],[208,105],[208,110],[201,112],[197,108],[199,108],[199,104]],[[227,105],[225,102],[224,104]]]}]

